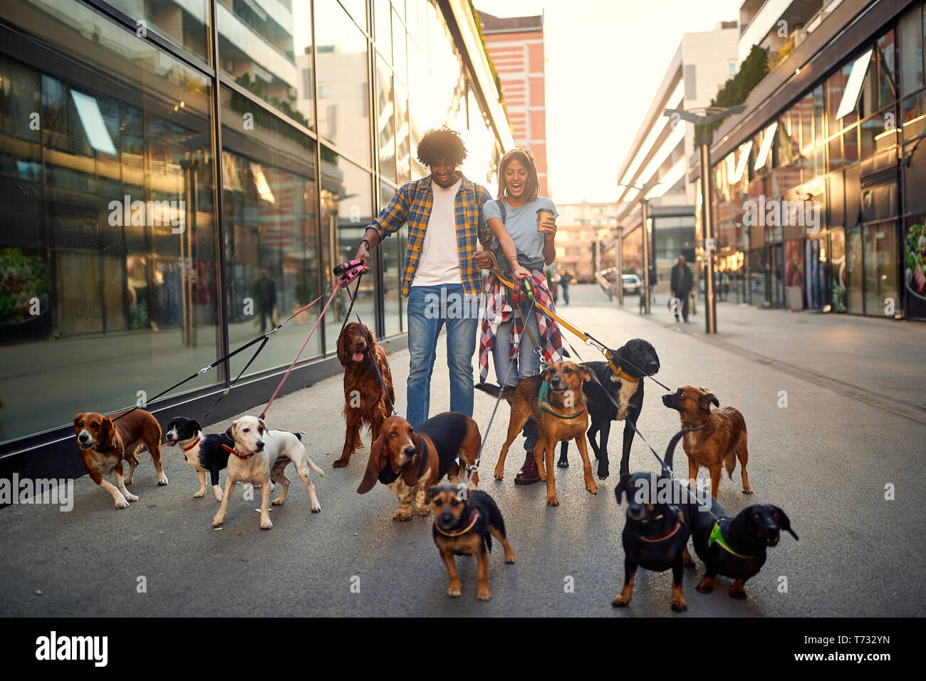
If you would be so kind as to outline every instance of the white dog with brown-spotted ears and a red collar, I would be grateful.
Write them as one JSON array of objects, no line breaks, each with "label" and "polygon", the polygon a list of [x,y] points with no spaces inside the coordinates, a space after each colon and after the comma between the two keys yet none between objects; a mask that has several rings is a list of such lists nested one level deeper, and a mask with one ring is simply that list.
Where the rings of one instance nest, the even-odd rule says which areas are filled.
[{"label": "white dog with brown-spotted ears and a red collar", "polygon": [[300,436],[282,430],[268,430],[263,419],[256,416],[242,416],[232,422],[225,432],[234,441],[234,450],[230,452],[228,479],[225,481],[225,494],[219,512],[212,519],[212,526],[219,527],[225,521],[228,511],[229,494],[237,482],[251,483],[260,486],[260,529],[269,530],[270,523],[269,499],[270,480],[282,485],[282,493],[273,499],[274,506],[282,506],[289,489],[289,478],[283,474],[283,469],[292,461],[296,473],[306,484],[308,496],[312,498],[312,512],[321,511],[319,498],[315,496],[315,486],[308,479],[308,469],[311,468],[321,477],[325,476],[306,455],[306,448],[300,441]]}]

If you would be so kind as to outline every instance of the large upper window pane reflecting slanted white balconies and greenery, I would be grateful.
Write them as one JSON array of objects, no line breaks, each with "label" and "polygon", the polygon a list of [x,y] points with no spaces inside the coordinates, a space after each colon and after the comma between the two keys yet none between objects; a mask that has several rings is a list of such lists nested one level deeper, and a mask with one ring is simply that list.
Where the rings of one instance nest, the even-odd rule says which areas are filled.
[{"label": "large upper window pane reflecting slanted white balconies and greenery", "polygon": [[222,72],[313,130],[310,0],[293,0],[292,5],[217,2],[216,22]]}]

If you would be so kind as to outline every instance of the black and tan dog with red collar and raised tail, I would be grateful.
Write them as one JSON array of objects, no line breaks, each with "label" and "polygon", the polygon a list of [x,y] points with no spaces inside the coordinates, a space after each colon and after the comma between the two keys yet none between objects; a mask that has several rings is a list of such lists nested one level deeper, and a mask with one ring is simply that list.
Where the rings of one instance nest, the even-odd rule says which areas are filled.
[{"label": "black and tan dog with red collar and raised tail", "polygon": [[[671,453],[684,431],[669,442],[666,461],[671,466]],[[688,536],[691,535],[691,518],[694,499],[689,498],[687,487],[667,475],[634,473],[624,475],[614,489],[620,505],[621,495],[627,494],[627,523],[620,536],[624,547],[624,586],[611,601],[616,608],[631,602],[633,576],[637,567],[657,573],[672,570],[672,610],[688,610],[682,594],[683,556]],[[667,503],[666,499],[671,503]]]}]

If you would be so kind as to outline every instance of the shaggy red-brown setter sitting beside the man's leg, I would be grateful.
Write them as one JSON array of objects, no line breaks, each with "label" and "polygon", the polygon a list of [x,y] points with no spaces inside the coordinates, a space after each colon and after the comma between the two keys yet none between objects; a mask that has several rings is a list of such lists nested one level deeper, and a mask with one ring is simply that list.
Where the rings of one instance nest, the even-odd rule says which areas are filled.
[{"label": "shaggy red-brown setter sitting beside the man's leg", "polygon": [[[344,421],[347,422],[347,431],[344,434],[341,458],[332,465],[341,468],[350,463],[357,449],[363,447],[360,441],[362,425],[369,425],[374,440],[380,435],[382,422],[393,413],[395,392],[393,374],[389,371],[386,359],[388,353],[376,345],[376,338],[366,325],[350,322],[344,326],[337,347],[338,360],[344,367]],[[382,383],[376,371],[377,366]],[[383,383],[386,392],[382,390]]]}]

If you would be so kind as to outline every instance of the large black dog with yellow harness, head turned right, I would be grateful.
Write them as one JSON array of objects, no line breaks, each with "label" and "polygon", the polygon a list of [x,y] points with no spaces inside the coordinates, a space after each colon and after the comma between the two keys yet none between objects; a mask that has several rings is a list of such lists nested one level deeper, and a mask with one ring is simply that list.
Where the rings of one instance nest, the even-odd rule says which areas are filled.
[{"label": "large black dog with yellow harness, head turned right", "polygon": [[[585,393],[585,402],[588,405],[590,417],[588,441],[592,444],[594,458],[598,460],[599,480],[607,478],[609,473],[607,437],[611,432],[612,421],[624,422],[624,448],[620,455],[620,474],[630,474],[631,445],[633,435],[635,435],[631,423],[636,423],[640,411],[643,410],[643,379],[659,371],[659,357],[656,354],[656,348],[642,338],[633,338],[617,350],[608,350],[608,352],[618,368],[617,373],[608,366],[607,361],[588,361],[582,365],[588,367],[598,379],[586,381],[582,385],[582,392]],[[598,433],[601,433],[600,443],[594,440],[594,436]],[[563,442],[557,461],[559,468],[569,468],[569,459],[566,454],[568,449],[569,443]]]}]

